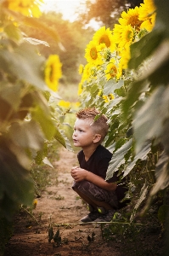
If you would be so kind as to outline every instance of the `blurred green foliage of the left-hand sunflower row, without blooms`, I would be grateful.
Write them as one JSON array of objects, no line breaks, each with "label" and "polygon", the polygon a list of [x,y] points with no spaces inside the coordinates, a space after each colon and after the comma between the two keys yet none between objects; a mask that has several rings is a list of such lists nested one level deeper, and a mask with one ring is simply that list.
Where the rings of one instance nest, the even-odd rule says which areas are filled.
[{"label": "blurred green foliage of the left-hand sunflower row, without blooms", "polygon": [[71,147],[60,128],[60,117],[65,113],[50,104],[51,98],[56,101],[59,96],[45,82],[46,57],[40,54],[39,46],[48,47],[48,43],[28,38],[21,27],[42,30],[55,44],[59,44],[58,33],[38,19],[9,10],[3,2],[0,12],[1,231],[7,228],[0,237],[5,242],[14,213],[21,205],[31,207],[37,192],[30,175],[32,162],[38,159],[38,164],[43,161],[52,166],[47,158],[48,147],[55,141]]}]

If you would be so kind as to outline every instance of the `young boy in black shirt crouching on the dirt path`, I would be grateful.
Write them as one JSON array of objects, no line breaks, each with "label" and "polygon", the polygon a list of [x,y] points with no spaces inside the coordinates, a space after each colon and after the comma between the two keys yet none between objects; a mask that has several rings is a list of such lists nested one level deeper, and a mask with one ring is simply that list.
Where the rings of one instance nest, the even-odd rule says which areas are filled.
[{"label": "young boy in black shirt crouching on the dirt path", "polygon": [[74,178],[72,189],[87,202],[89,210],[82,222],[109,222],[121,207],[120,201],[127,190],[117,184],[116,175],[105,181],[112,154],[101,143],[109,125],[104,114],[94,121],[98,114],[95,108],[77,112],[72,136],[74,146],[82,148],[77,154],[80,166],[72,167],[70,172]]}]

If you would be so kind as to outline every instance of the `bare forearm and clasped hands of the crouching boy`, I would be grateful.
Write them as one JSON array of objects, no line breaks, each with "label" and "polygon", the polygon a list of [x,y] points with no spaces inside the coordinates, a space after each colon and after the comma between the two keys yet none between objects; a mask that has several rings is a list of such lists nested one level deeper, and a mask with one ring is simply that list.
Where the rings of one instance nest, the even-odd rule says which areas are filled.
[{"label": "bare forearm and clasped hands of the crouching boy", "polygon": [[76,182],[87,180],[97,185],[99,188],[102,188],[108,191],[114,191],[117,187],[116,183],[108,183],[104,180],[103,177],[99,177],[93,172],[88,172],[87,170],[82,169],[80,167],[73,167],[71,169],[71,176],[74,178]]}]

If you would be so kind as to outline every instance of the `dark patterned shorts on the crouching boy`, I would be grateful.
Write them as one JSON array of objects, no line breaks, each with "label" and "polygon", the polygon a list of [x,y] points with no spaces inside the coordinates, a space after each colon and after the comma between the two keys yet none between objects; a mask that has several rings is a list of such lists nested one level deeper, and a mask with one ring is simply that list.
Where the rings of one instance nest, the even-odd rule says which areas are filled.
[{"label": "dark patterned shorts on the crouching boy", "polygon": [[74,182],[72,189],[75,188],[82,192],[82,194],[87,195],[91,200],[104,201],[110,204],[111,207],[114,207],[115,209],[118,208],[118,200],[115,191],[101,189],[87,180],[79,183]]}]

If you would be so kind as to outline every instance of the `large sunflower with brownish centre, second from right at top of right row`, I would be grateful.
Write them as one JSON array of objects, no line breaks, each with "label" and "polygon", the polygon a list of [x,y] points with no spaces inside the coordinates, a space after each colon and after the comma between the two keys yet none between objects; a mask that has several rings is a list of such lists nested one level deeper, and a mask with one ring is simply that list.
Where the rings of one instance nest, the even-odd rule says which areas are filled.
[{"label": "large sunflower with brownish centre, second from right at top of right row", "polygon": [[134,9],[128,9],[127,13],[125,11],[122,12],[121,18],[119,19],[119,23],[123,26],[131,25],[135,29],[139,29],[142,21],[138,19],[139,16],[139,8],[136,6]]}]

